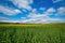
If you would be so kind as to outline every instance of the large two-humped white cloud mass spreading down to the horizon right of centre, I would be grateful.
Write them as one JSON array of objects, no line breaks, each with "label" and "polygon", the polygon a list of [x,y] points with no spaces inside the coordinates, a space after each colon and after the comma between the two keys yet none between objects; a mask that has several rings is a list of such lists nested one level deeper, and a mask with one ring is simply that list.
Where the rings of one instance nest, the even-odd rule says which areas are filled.
[{"label": "large two-humped white cloud mass spreading down to the horizon right of centre", "polygon": [[55,10],[53,8],[51,8],[51,9],[48,9],[48,11],[46,11],[46,13],[39,14],[39,13],[37,13],[37,10],[35,9],[27,16],[30,18],[24,19],[24,20],[22,20],[22,23],[31,23],[31,24],[65,23],[65,19],[49,17],[49,15],[54,12],[55,12]]}]

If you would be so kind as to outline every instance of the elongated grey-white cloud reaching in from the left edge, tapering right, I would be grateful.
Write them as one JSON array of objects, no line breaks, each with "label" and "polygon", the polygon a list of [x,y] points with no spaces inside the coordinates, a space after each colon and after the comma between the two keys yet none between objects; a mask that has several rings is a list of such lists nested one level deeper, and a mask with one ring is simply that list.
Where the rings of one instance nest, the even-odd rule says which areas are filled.
[{"label": "elongated grey-white cloud reaching in from the left edge, tapering right", "polygon": [[18,13],[21,13],[20,10],[12,10],[5,6],[0,5],[0,12],[6,15],[16,15]]}]

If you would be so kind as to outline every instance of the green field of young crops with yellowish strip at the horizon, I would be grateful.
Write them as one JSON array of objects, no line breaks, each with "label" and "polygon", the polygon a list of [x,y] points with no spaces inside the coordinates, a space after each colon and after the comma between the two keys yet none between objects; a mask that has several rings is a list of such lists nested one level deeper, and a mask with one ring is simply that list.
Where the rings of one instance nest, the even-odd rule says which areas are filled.
[{"label": "green field of young crops with yellowish strip at the horizon", "polygon": [[65,43],[65,24],[0,24],[0,43]]}]

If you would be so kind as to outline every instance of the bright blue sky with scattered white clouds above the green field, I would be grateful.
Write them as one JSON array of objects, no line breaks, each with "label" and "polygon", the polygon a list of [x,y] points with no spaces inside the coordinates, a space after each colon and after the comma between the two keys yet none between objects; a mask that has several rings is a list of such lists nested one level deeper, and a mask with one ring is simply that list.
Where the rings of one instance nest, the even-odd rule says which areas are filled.
[{"label": "bright blue sky with scattered white clouds above the green field", "polygon": [[0,0],[0,23],[65,23],[65,0]]}]

